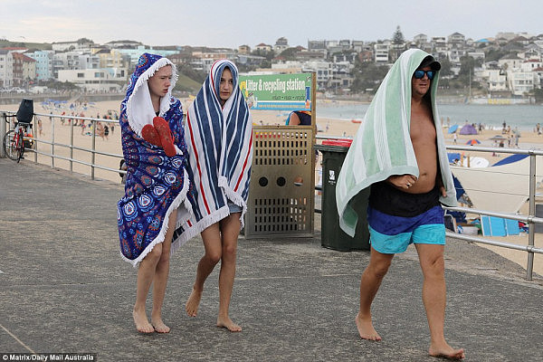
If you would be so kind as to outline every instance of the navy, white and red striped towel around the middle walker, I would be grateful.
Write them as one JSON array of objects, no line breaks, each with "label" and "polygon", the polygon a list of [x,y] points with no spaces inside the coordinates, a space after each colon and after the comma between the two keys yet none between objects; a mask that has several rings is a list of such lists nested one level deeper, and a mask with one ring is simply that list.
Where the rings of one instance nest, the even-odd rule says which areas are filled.
[{"label": "navy, white and red striped towel around the middle walker", "polygon": [[[233,93],[221,107],[219,87],[225,67],[232,72]],[[230,214],[228,202],[242,208],[243,227],[251,176],[252,119],[233,62],[214,62],[188,108],[185,138],[197,198],[194,217],[177,232],[201,233]]]}]

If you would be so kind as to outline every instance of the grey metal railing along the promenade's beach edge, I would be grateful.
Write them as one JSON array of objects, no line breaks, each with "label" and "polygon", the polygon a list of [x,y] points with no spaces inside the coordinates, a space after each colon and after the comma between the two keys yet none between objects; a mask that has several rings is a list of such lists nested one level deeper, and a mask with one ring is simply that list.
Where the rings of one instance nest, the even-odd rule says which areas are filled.
[{"label": "grey metal railing along the promenade's beach edge", "polygon": [[[0,112],[0,122],[2,122],[5,125],[5,116],[6,115],[13,115],[14,112]],[[34,113],[33,119],[33,139],[34,147],[28,149],[26,152],[33,152],[34,154],[34,162],[38,162],[38,155],[42,155],[44,157],[51,157],[51,167],[55,167],[55,159],[62,159],[67,160],[70,163],[70,171],[73,172],[73,164],[81,164],[84,166],[90,167],[90,177],[92,179],[95,179],[95,170],[101,169],[109,172],[113,172],[116,174],[126,174],[126,171],[120,170],[119,168],[112,168],[112,167],[106,167],[103,165],[99,165],[96,162],[96,156],[105,156],[105,157],[116,157],[119,160],[123,158],[120,154],[110,153],[110,152],[103,152],[96,148],[96,137],[97,137],[97,124],[98,122],[103,123],[114,123],[118,124],[118,120],[111,120],[111,119],[95,119],[95,118],[87,118],[87,117],[79,117],[79,116],[62,116],[62,115],[53,115],[53,114],[44,114],[44,113]],[[37,128],[37,119],[50,119],[51,120],[51,140],[46,140],[43,138],[38,138],[36,133],[38,132]],[[56,120],[61,119],[71,119],[70,122],[70,143],[60,143],[55,142],[55,133],[54,133],[54,124]],[[90,148],[83,148],[74,145],[74,138],[73,138],[73,130],[74,130],[74,119],[83,120],[83,121],[90,121],[92,125],[92,132],[90,133],[91,136],[91,147]],[[5,129],[2,128],[2,125],[0,125],[0,131],[5,133]],[[3,137],[2,134],[2,137]],[[326,136],[317,136],[317,139],[350,139],[346,137],[326,137]],[[38,150],[38,144],[46,144],[51,146],[51,152],[43,152],[41,150]],[[68,148],[70,150],[70,156],[65,157],[58,154],[55,154],[55,150],[57,148]],[[499,212],[492,212],[488,210],[477,210],[473,208],[468,207],[444,207],[447,210],[451,211],[459,211],[462,213],[467,214],[479,214],[479,215],[489,215],[489,216],[497,216],[501,218],[506,219],[512,219],[512,220],[518,220],[523,223],[526,223],[529,225],[529,242],[528,245],[519,245],[515,243],[506,243],[506,242],[498,242],[493,241],[489,239],[484,239],[472,235],[467,234],[460,234],[460,233],[452,233],[447,232],[446,235],[448,237],[463,240],[466,242],[472,242],[472,243],[483,243],[488,245],[494,245],[502,248],[507,248],[511,250],[519,250],[522,252],[528,253],[528,261],[527,261],[527,280],[531,281],[533,278],[533,263],[534,263],[534,253],[543,253],[542,248],[538,248],[535,246],[535,225],[536,224],[543,224],[543,218],[536,216],[536,186],[537,186],[537,180],[536,180],[536,157],[542,157],[543,151],[540,150],[534,150],[534,149],[512,149],[512,148],[484,148],[484,147],[475,147],[475,146],[447,146],[447,149],[449,150],[461,150],[461,151],[471,151],[471,152],[500,152],[505,154],[519,154],[519,155],[529,155],[530,157],[530,163],[529,163],[529,214],[528,215],[522,215],[522,214],[504,214]],[[74,150],[79,150],[83,152],[90,153],[90,162],[83,161],[81,159],[77,159],[73,155]],[[0,156],[3,155],[0,154]],[[321,187],[317,186],[317,190],[321,189]],[[319,213],[319,210],[315,210],[315,212]]]}]

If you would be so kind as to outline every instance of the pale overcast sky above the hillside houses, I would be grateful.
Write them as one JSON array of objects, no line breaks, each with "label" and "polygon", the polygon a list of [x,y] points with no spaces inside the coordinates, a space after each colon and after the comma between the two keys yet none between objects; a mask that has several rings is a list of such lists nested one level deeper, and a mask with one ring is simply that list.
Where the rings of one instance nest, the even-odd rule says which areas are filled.
[{"label": "pale overcast sky above the hillside houses", "polygon": [[543,33],[543,0],[0,0],[0,38],[21,42],[237,48],[308,40],[406,39],[459,32],[478,40],[499,32]]}]

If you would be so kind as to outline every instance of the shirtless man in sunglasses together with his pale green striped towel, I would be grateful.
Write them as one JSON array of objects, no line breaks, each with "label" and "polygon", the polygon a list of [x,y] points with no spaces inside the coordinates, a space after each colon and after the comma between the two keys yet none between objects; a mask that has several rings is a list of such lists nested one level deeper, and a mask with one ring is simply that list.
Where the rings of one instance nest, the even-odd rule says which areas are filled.
[{"label": "shirtless man in sunglasses together with his pale green striped towel", "polygon": [[[461,359],[443,333],[445,205],[456,205],[443,133],[435,108],[438,71],[433,56],[408,50],[388,71],[348,150],[338,176],[339,224],[354,235],[357,214],[348,202],[370,186],[367,222],[370,261],[360,281],[356,324],[360,338],[381,340],[371,305],[395,253],[414,243],[423,271],[423,301],[433,357]],[[378,133],[379,137],[376,137]]]}]

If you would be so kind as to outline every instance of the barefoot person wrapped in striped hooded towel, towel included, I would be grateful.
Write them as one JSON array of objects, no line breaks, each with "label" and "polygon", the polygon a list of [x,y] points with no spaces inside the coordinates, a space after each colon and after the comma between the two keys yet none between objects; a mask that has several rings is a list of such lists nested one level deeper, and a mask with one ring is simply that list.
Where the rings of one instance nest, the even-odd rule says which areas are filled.
[{"label": "barefoot person wrapped in striped hooded towel, towel included", "polygon": [[239,332],[229,316],[237,240],[243,228],[252,164],[252,119],[233,62],[214,62],[188,109],[186,144],[198,191],[191,230],[201,232],[205,254],[198,262],[186,313],[195,317],[204,283],[220,261],[217,327]]}]

